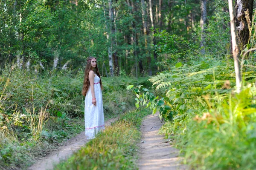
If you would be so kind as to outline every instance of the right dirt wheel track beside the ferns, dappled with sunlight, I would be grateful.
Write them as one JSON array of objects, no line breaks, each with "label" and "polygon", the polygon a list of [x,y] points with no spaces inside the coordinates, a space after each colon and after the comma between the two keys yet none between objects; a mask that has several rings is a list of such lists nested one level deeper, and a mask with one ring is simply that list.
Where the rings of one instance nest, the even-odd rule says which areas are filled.
[{"label": "right dirt wheel track beside the ferns, dappled with sunlight", "polygon": [[139,170],[186,170],[178,156],[179,150],[166,142],[158,130],[163,125],[159,112],[148,115],[141,126],[143,139],[140,143]]}]

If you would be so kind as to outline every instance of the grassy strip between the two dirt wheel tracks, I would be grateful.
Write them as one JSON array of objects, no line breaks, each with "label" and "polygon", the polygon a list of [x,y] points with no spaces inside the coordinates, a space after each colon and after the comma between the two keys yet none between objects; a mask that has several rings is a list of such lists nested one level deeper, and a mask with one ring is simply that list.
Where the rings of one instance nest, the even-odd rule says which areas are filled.
[{"label": "grassy strip between the two dirt wheel tracks", "polygon": [[138,109],[121,115],[119,120],[89,141],[55,170],[135,170],[139,126],[148,109]]}]

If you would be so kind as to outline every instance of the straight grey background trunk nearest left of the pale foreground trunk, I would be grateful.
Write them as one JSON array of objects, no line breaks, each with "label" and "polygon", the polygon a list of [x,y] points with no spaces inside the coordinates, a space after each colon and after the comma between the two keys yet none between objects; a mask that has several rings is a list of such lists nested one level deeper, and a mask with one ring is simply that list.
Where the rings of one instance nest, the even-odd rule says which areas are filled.
[{"label": "straight grey background trunk nearest left of the pale foreground trunk", "polygon": [[201,20],[200,20],[200,26],[201,26],[201,42],[200,42],[200,48],[201,48],[201,53],[202,53],[203,55],[205,54],[206,17],[207,17],[206,0],[201,0]]}]

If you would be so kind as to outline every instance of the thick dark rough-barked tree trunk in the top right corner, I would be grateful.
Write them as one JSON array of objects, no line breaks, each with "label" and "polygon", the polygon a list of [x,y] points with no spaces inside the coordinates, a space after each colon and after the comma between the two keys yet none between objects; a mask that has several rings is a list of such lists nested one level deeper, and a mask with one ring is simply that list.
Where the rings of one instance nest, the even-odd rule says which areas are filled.
[{"label": "thick dark rough-barked tree trunk in the top right corner", "polygon": [[[250,21],[253,17],[253,0],[236,0],[235,1],[236,29],[238,34],[238,47],[241,51],[249,43],[250,31],[246,21],[245,12],[248,10]],[[249,23],[250,24],[250,23]]]}]

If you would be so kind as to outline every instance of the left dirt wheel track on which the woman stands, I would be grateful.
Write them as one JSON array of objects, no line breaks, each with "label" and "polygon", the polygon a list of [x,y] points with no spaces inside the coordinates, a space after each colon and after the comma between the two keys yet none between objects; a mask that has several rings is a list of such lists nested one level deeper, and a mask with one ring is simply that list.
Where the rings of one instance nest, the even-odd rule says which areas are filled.
[{"label": "left dirt wheel track on which the woman stands", "polygon": [[[105,126],[109,126],[116,118],[105,122]],[[35,164],[29,167],[29,170],[52,170],[54,164],[58,164],[61,160],[67,159],[74,152],[79,150],[84,144],[89,141],[85,138],[84,132],[74,138],[71,138],[59,148],[59,150],[50,153],[46,158],[38,160]]]}]

